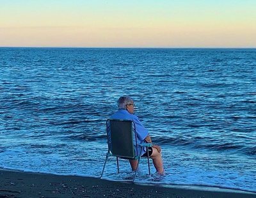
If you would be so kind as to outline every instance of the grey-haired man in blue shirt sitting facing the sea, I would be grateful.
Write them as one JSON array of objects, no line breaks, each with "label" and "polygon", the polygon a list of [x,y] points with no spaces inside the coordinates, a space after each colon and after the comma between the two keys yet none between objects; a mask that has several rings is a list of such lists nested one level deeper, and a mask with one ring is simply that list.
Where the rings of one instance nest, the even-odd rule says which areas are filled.
[{"label": "grey-haired man in blue shirt sitting facing the sea", "polygon": [[[137,132],[137,142],[143,143],[148,142],[151,143],[151,138],[148,135],[148,130],[142,125],[141,121],[137,116],[133,114],[134,112],[134,102],[132,98],[127,96],[122,96],[117,101],[118,104],[118,111],[111,116],[111,119],[129,119],[135,123],[136,132]],[[147,150],[145,147],[138,147],[139,153],[141,153],[141,156],[147,156]],[[163,160],[161,156],[161,148],[154,144],[152,147],[148,148],[148,154],[150,158],[153,160],[154,167],[156,168],[156,171],[158,174],[163,175],[164,169],[163,169]],[[136,167],[138,165],[138,160],[129,160],[132,171],[136,170]]]}]

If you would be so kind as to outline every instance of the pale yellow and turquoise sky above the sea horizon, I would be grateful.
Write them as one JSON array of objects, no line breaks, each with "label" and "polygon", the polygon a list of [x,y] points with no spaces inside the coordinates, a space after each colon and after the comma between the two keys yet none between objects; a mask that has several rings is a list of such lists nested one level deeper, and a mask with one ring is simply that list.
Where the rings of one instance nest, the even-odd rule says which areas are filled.
[{"label": "pale yellow and turquoise sky above the sea horizon", "polygon": [[256,47],[256,0],[0,0],[0,47]]}]

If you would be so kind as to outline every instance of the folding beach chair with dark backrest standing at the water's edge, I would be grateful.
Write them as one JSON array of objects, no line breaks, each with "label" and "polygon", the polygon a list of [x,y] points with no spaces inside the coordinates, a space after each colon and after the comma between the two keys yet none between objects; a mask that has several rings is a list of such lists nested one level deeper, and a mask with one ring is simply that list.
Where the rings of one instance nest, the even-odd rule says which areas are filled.
[{"label": "folding beach chair with dark backrest standing at the water's edge", "polygon": [[[108,153],[106,155],[106,160],[105,160],[100,178],[102,178],[102,175],[106,166],[106,162],[109,156],[115,156],[118,173],[119,173],[118,158],[124,158],[127,160],[138,160],[138,165],[134,173],[134,177],[132,179],[132,182],[133,182],[136,177],[136,173],[138,171],[140,158],[141,158],[140,156],[141,153],[138,153],[138,146],[141,146],[141,147],[146,146],[148,148],[149,146],[152,146],[152,144],[137,143],[137,139],[135,138],[137,137],[135,124],[131,120],[108,119],[106,121],[106,130],[107,130],[107,137],[108,137]],[[147,149],[147,160],[148,160],[148,174],[150,175],[148,149]]]}]

